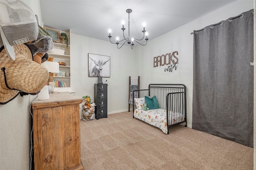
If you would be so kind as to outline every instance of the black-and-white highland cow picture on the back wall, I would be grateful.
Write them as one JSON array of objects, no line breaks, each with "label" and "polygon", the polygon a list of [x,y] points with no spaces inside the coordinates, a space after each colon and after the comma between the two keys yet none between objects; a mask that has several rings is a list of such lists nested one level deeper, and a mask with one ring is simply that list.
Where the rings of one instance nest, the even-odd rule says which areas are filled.
[{"label": "black-and-white highland cow picture on the back wall", "polygon": [[88,76],[110,77],[110,56],[88,53]]}]

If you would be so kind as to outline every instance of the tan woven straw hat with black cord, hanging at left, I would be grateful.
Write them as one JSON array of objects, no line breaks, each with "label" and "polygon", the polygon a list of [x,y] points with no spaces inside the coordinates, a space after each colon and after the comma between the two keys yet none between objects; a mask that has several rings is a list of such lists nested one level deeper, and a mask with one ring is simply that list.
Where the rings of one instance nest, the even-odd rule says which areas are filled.
[{"label": "tan woven straw hat with black cord, hanging at left", "polygon": [[20,92],[38,92],[49,78],[48,70],[32,61],[32,53],[26,45],[15,45],[14,53],[15,61],[4,47],[0,49],[0,104],[10,102]]}]

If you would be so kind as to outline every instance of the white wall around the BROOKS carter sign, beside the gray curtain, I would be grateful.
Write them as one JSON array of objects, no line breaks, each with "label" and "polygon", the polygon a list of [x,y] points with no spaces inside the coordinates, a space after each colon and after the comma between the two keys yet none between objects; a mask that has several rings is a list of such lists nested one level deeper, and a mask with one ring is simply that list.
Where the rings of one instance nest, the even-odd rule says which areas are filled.
[{"label": "white wall around the BROOKS carter sign, beside the gray curtain", "polygon": [[[241,0],[218,11],[208,14],[161,35],[148,42],[145,47],[136,49],[141,69],[141,86],[146,88],[149,83],[181,83],[187,87],[187,123],[192,127],[192,92],[193,92],[193,35],[194,30],[218,23],[242,12],[253,9],[253,0]],[[172,72],[164,72],[166,66],[153,67],[153,58],[166,53],[178,51],[178,67]]]}]

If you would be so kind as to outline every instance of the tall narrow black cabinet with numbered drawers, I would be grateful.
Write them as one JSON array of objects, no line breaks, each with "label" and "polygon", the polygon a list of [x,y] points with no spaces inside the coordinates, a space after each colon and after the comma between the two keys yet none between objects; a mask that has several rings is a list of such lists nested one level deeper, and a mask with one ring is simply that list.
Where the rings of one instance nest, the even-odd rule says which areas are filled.
[{"label": "tall narrow black cabinet with numbered drawers", "polygon": [[108,84],[94,84],[94,103],[96,119],[108,117]]}]

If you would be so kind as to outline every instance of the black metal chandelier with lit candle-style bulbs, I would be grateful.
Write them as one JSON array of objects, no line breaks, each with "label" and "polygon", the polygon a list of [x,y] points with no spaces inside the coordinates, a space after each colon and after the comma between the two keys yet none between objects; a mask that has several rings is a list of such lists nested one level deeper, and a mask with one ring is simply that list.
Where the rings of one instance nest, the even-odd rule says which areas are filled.
[{"label": "black metal chandelier with lit candle-style bulbs", "polygon": [[[145,37],[145,35],[146,35],[146,39],[145,39],[145,40],[146,40],[146,44],[141,44],[140,42],[138,42],[138,41],[141,41],[142,39],[135,39],[135,38],[131,38],[131,39],[130,39],[130,13],[132,12],[132,10],[131,10],[131,9],[127,9],[126,12],[128,13],[128,37],[126,38],[126,37],[124,36],[124,39],[122,39],[122,40],[120,40],[120,41],[118,41],[119,38],[116,37],[116,43],[113,43],[113,42],[111,42],[111,37],[112,37],[112,36],[110,35],[111,29],[109,29],[109,30],[108,30],[108,32],[109,32],[109,36],[108,36],[108,37],[109,37],[110,43],[116,44],[118,49],[120,49],[121,47],[123,47],[124,43],[126,43],[126,42],[131,46],[132,49],[133,49],[134,41],[135,41],[136,43],[140,44],[140,45],[147,45],[147,43],[148,43],[148,33],[147,33],[146,30],[145,30],[145,24],[143,25],[143,31],[142,31],[143,37],[142,37],[142,39],[144,39],[144,37]],[[123,27],[122,27],[121,29],[123,30],[123,35],[124,35],[124,30],[125,30],[125,28],[124,28],[124,21],[122,21],[122,25],[123,25]],[[121,47],[118,47],[118,44],[119,44],[119,43],[122,43]]]}]

